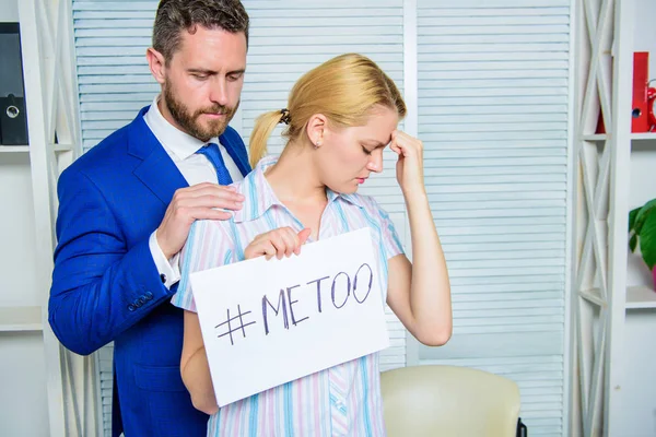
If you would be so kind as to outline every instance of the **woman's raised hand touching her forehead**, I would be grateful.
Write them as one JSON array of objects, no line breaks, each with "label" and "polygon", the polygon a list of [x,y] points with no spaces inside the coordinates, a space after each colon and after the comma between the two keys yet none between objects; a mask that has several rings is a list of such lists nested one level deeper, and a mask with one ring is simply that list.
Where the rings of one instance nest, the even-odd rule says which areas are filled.
[{"label": "woman's raised hand touching her forehead", "polygon": [[389,144],[397,155],[397,180],[405,193],[424,187],[423,179],[423,143],[402,132],[391,132]]}]

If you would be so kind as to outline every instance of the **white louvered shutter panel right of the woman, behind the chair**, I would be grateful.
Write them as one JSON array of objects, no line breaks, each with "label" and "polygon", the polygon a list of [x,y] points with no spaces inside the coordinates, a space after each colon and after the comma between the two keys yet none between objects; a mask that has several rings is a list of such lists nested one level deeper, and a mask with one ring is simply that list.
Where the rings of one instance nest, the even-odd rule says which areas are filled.
[{"label": "white louvered shutter panel right of the woman, behind the chair", "polygon": [[518,382],[530,436],[565,402],[569,0],[418,0],[419,133],[454,335],[421,364]]}]

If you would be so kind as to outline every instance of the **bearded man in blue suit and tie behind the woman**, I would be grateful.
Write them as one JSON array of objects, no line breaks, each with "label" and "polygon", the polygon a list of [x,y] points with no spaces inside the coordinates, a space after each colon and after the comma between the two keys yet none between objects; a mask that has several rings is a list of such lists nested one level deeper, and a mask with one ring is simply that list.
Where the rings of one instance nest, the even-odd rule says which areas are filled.
[{"label": "bearded man in blue suit and tie behind the woman", "polygon": [[49,321],[90,354],[114,341],[113,435],[204,436],[180,378],[177,253],[195,220],[225,220],[249,170],[227,126],[246,69],[238,0],[162,0],[147,52],[162,93],[62,173]]}]

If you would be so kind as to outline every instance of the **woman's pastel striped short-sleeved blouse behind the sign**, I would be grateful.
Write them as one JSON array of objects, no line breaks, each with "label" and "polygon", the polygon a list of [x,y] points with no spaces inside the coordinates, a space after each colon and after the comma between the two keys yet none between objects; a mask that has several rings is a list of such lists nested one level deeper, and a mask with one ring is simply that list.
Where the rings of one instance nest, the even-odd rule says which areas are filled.
[{"label": "woman's pastel striped short-sleeved blouse behind the sign", "polygon": [[[244,249],[262,233],[301,222],[276,197],[262,160],[234,186],[246,198],[229,221],[194,224],[181,253],[181,280],[173,297],[177,307],[196,311],[189,274],[244,260]],[[382,291],[387,293],[387,260],[402,252],[389,216],[370,197],[327,190],[328,204],[319,239],[368,226],[377,247]],[[386,296],[383,296],[385,300]],[[208,436],[384,436],[378,354],[370,354],[231,403],[213,414]]]}]

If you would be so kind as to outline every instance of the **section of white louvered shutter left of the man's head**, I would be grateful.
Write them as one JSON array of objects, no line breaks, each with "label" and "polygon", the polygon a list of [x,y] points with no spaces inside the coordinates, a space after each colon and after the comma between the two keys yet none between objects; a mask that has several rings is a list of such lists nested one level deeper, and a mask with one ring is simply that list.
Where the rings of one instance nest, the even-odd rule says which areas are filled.
[{"label": "section of white louvered shutter left of the man's head", "polygon": [[160,85],[145,60],[157,1],[73,1],[84,151],[130,122]]}]

